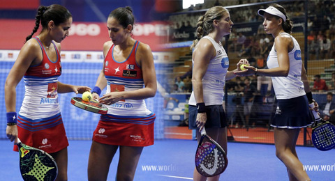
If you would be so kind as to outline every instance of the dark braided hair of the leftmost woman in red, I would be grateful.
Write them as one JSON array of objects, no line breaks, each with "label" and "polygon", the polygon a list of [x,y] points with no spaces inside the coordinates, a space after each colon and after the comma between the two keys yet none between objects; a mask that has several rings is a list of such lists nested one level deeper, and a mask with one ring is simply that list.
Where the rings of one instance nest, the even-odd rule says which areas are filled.
[{"label": "dark braided hair of the leftmost woman in red", "polygon": [[61,23],[66,22],[70,17],[72,17],[70,11],[64,6],[59,4],[52,4],[50,6],[40,6],[37,10],[37,15],[35,17],[35,27],[33,32],[26,38],[26,42],[33,37],[34,33],[38,30],[40,24],[43,29],[47,29],[47,24],[50,21],[54,21],[54,24],[58,26]]}]

